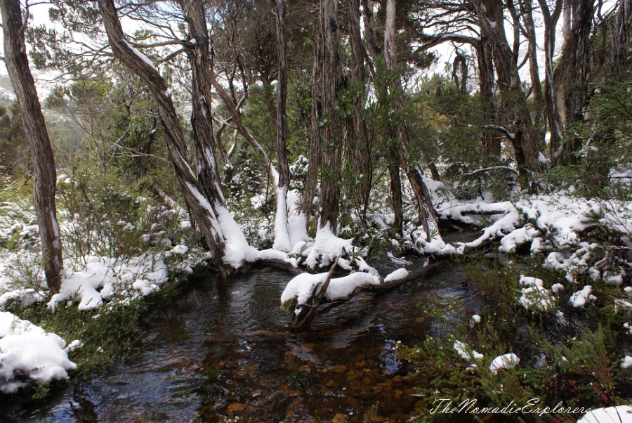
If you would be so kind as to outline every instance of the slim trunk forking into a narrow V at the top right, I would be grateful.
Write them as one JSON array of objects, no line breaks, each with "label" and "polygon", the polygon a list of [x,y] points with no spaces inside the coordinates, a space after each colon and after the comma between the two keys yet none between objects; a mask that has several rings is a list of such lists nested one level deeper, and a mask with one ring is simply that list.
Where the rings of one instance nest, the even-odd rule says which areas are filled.
[{"label": "slim trunk forking into a narrow V at the top right", "polygon": [[555,53],[555,28],[558,25],[564,0],[555,0],[555,6],[551,11],[546,0],[538,0],[544,20],[544,105],[546,108],[546,119],[548,120],[548,131],[551,139],[548,143],[551,163],[555,164],[555,150],[562,141],[562,119],[558,110],[558,88],[555,83],[553,73],[553,53]]}]

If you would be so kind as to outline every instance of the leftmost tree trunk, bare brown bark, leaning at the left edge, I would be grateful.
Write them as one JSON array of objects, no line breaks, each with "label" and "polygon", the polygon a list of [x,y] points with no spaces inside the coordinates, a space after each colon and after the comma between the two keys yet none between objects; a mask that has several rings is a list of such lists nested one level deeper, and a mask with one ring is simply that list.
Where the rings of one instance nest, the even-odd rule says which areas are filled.
[{"label": "leftmost tree trunk, bare brown bark, leaning at the left edge", "polygon": [[62,282],[63,261],[57,209],[55,208],[55,159],[41,113],[35,83],[29,70],[29,59],[24,41],[25,23],[19,0],[0,0],[2,32],[4,35],[4,62],[11,84],[18,97],[20,115],[29,141],[34,165],[33,202],[41,238],[42,262],[46,283],[51,293],[59,292]]}]

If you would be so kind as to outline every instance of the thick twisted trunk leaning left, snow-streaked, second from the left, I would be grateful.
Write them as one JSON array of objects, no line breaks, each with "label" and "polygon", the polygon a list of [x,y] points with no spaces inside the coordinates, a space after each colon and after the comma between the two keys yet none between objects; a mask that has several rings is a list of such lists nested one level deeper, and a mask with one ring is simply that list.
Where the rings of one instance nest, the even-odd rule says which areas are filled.
[{"label": "thick twisted trunk leaning left, snow-streaked, second from the left", "polygon": [[[152,98],[157,103],[169,160],[192,219],[202,231],[220,275],[230,275],[236,269],[223,262],[225,238],[218,221],[218,213],[228,212],[228,210],[225,208],[219,182],[211,181],[211,186],[218,188],[216,197],[206,197],[206,190],[202,188],[186,160],[184,136],[164,80],[154,65],[126,41],[114,1],[98,0],[98,3],[112,53],[126,67],[129,67],[132,72],[143,79],[152,93]],[[214,173],[211,173],[208,176],[211,178],[213,175]]]}]

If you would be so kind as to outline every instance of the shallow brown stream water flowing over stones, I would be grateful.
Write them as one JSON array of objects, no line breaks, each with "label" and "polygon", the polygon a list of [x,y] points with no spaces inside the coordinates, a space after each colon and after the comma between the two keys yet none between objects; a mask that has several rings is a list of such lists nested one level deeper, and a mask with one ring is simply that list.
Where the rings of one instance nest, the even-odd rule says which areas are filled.
[{"label": "shallow brown stream water flowing over stones", "polygon": [[[374,263],[382,275],[393,263]],[[421,262],[409,266],[409,270]],[[473,301],[445,267],[387,294],[322,305],[307,333],[289,331],[279,297],[291,276],[259,269],[220,282],[209,273],[147,323],[140,356],[72,384],[27,422],[404,422],[423,406],[419,380],[393,349],[436,331],[420,304]],[[371,420],[372,421],[372,420]],[[377,420],[382,421],[382,420]]]}]

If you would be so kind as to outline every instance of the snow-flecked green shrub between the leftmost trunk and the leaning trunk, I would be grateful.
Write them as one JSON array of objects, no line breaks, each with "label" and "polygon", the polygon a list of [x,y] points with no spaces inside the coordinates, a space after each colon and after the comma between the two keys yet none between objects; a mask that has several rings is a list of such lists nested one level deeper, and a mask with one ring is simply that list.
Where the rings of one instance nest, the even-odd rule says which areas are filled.
[{"label": "snow-flecked green shrub between the leftmost trunk and the leaning trunk", "polygon": [[102,174],[88,162],[72,162],[58,184],[67,256],[121,259],[151,252],[178,239],[178,211],[155,204],[149,176],[130,181],[113,169]]}]

